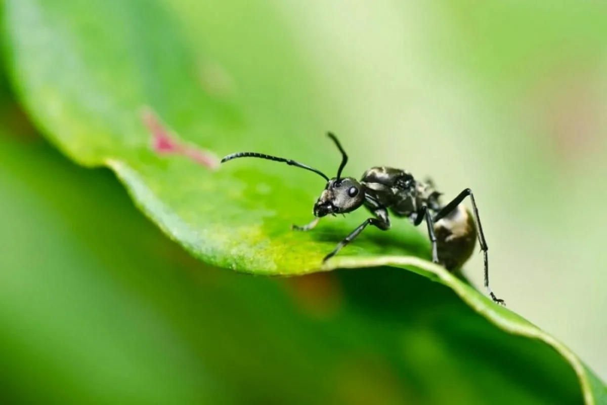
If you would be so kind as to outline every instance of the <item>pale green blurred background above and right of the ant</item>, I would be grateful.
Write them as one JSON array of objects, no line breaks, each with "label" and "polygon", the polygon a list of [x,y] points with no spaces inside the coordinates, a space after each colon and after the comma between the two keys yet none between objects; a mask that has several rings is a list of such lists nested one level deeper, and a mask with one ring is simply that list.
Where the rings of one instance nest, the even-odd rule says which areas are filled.
[{"label": "pale green blurred background above and right of the ant", "polygon": [[[350,169],[472,188],[508,307],[607,375],[607,8],[285,2]],[[319,133],[324,128],[319,128]],[[353,138],[356,141],[351,141]],[[352,145],[349,145],[349,144]],[[354,173],[356,173],[354,169]],[[482,285],[482,256],[466,274]]]}]

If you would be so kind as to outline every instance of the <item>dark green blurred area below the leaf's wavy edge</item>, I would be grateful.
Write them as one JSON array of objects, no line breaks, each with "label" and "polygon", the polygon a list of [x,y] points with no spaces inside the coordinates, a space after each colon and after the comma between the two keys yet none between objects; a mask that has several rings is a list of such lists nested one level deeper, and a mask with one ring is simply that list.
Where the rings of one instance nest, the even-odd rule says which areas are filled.
[{"label": "dark green blurred area below the leaf's wavy edge", "polygon": [[502,332],[426,277],[205,267],[139,216],[108,172],[2,131],[0,160],[10,403],[582,402],[551,347]]}]

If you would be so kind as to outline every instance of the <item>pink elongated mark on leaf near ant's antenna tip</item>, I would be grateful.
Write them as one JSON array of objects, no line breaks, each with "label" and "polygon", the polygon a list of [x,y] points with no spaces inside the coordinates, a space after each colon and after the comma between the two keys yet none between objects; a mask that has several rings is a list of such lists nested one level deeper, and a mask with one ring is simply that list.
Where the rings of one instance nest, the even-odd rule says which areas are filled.
[{"label": "pink elongated mark on leaf near ant's antenna tip", "polygon": [[181,155],[209,169],[219,167],[217,155],[179,140],[164,126],[152,109],[146,107],[141,112],[141,120],[152,134],[152,150],[158,155]]}]

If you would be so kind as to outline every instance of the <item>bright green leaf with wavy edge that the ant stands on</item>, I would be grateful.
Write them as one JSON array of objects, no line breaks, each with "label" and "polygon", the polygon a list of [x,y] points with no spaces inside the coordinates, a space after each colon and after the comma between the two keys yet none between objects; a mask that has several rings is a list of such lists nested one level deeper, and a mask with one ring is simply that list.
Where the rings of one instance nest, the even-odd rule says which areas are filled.
[{"label": "bright green leaf with wavy edge that the ant stands on", "polygon": [[[322,257],[335,243],[362,222],[362,213],[324,221],[314,233],[294,233],[291,223],[312,218],[311,205],[324,185],[319,177],[262,160],[234,161],[220,169],[209,167],[216,157],[246,150],[294,158],[328,173],[333,173],[339,162],[337,151],[322,135],[324,128],[320,128],[314,106],[307,102],[312,79],[302,68],[302,56],[265,3],[7,0],[5,25],[12,81],[33,120],[61,151],[81,165],[111,168],[143,212],[206,263],[270,275],[339,267],[406,267],[452,288],[476,313],[498,327],[483,324],[480,317],[466,313],[467,308],[458,307],[453,315],[446,311],[447,305],[440,307],[454,316],[453,322],[470,321],[471,330],[482,328],[479,336],[495,338],[476,347],[503,345],[510,355],[527,350],[521,353],[529,357],[512,360],[503,371],[507,376],[503,376],[500,367],[473,358],[480,355],[470,346],[473,333],[439,318],[446,322],[443,332],[454,338],[453,344],[466,347],[463,358],[473,361],[474,367],[482,365],[462,376],[462,384],[483,375],[481,369],[492,370],[492,374],[483,375],[484,385],[479,390],[490,386],[499,386],[504,392],[518,388],[512,398],[532,401],[530,398],[551,396],[551,403],[563,398],[571,403],[575,401],[568,385],[571,375],[563,370],[562,361],[546,352],[552,347],[574,370],[585,403],[605,400],[605,387],[560,342],[493,305],[443,268],[405,257],[427,257],[428,243],[404,221],[389,234],[363,234],[344,251],[349,257],[337,257],[320,267]],[[191,9],[194,5],[197,7]],[[158,127],[167,128],[177,141],[177,153],[163,154],[153,147],[154,131],[164,132]],[[318,135],[310,138],[311,134]],[[351,142],[341,138],[348,149]],[[373,270],[373,277],[388,277],[390,271],[395,270]],[[399,283],[389,287],[393,290],[398,285],[401,293],[406,282],[415,284],[412,280],[417,280],[420,291],[428,293],[426,299],[447,293],[413,274],[403,272],[395,279]],[[416,305],[408,303],[419,307],[424,295],[411,292],[418,301],[412,301]],[[453,302],[449,298],[450,305]],[[364,322],[356,319],[351,325],[356,333],[378,341],[387,339],[379,332],[388,333],[393,338],[389,344],[406,342],[422,347],[418,358],[415,353],[409,355],[419,367],[429,367],[432,355],[449,361],[457,358],[453,355],[457,350],[452,352],[451,347],[437,343],[440,347],[436,350],[449,354],[432,353],[433,349],[426,347],[436,339],[433,332],[419,335],[421,339],[419,330],[412,328],[405,332],[405,338],[396,339],[388,327],[396,321],[375,324],[362,318]],[[370,332],[373,327],[377,332]],[[347,341],[345,332],[339,331],[331,333],[339,333],[342,343]],[[543,344],[536,344],[540,341]],[[329,351],[328,347],[320,350]],[[530,366],[531,356],[540,359],[533,364],[537,373],[533,381],[521,381],[513,364]],[[305,363],[305,359],[300,361]],[[395,367],[404,367],[402,361]],[[449,364],[451,373],[443,378],[458,373],[453,363]],[[552,367],[560,374],[551,373]],[[307,376],[302,370],[304,366],[300,372]],[[430,390],[428,370],[408,372],[414,374],[413,380],[423,379]],[[423,377],[416,376],[416,371]],[[356,369],[354,375],[358,372]],[[549,376],[543,379],[543,373]],[[552,378],[559,375],[569,383],[555,383],[557,379]],[[562,389],[562,395],[549,392],[549,385]],[[432,386],[436,386],[434,382]],[[446,392],[456,389],[449,388]],[[466,389],[475,388],[469,385]],[[431,397],[428,392],[424,394]],[[469,398],[467,403],[487,398],[478,391],[462,396]]]}]

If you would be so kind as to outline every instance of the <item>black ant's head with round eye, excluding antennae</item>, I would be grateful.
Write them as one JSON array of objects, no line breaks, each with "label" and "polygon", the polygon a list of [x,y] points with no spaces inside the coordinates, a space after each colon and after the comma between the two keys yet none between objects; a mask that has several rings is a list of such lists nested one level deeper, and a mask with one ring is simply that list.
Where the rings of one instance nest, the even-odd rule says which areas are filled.
[{"label": "black ant's head with round eye, excluding antennae", "polygon": [[336,177],[327,182],[325,190],[314,204],[314,216],[349,213],[364,202],[365,192],[361,183],[352,177]]}]

